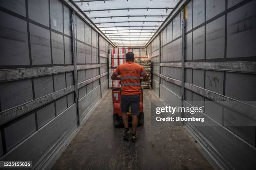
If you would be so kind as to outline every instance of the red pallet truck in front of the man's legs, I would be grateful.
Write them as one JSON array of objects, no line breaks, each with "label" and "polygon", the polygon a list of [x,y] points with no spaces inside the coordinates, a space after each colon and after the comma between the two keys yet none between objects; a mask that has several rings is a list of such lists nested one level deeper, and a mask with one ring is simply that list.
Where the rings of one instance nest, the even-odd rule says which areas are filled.
[{"label": "red pallet truck in front of the man's legs", "polygon": [[[112,98],[113,98],[113,122],[114,126],[123,126],[122,120],[122,111],[120,107],[121,102],[121,88],[120,87],[113,87],[112,89]],[[131,123],[132,116],[131,116],[131,107],[127,113],[128,115],[128,122]],[[141,98],[140,98],[140,108],[139,108],[139,115],[138,115],[138,125],[144,124],[144,112],[143,112],[143,90],[141,88]]]}]

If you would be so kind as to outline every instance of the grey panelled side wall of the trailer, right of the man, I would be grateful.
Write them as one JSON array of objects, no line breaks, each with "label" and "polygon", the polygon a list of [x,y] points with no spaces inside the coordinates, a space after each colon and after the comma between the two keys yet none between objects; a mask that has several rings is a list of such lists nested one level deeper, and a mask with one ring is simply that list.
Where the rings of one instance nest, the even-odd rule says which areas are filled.
[{"label": "grey panelled side wall of the trailer, right of the man", "polygon": [[180,4],[146,47],[152,88],[170,105],[204,106],[203,126],[184,123],[221,166],[255,169],[256,126],[244,122],[256,112],[256,0]]}]

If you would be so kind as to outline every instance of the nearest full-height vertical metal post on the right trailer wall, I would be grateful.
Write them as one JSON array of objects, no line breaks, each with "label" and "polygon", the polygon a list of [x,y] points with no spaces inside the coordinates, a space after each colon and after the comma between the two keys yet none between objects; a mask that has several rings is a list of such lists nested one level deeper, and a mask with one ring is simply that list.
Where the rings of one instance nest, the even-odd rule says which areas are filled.
[{"label": "nearest full-height vertical metal post on the right trailer wall", "polygon": [[[181,11],[181,36],[182,36],[182,56],[181,56],[181,100],[182,100],[182,107],[184,107],[184,80],[185,80],[185,69],[184,69],[184,60],[185,60],[185,11],[184,7],[182,7]],[[184,117],[184,112],[182,112],[182,117]],[[182,121],[182,125],[184,125],[184,121]]]}]

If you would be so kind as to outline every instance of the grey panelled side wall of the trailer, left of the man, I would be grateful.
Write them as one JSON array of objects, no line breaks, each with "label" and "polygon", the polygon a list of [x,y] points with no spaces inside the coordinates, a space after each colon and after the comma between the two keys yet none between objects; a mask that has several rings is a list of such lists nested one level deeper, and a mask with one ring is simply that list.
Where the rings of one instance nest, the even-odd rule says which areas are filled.
[{"label": "grey panelled side wall of the trailer, left of the man", "polygon": [[70,5],[0,2],[0,160],[40,168],[108,90],[110,43]]}]

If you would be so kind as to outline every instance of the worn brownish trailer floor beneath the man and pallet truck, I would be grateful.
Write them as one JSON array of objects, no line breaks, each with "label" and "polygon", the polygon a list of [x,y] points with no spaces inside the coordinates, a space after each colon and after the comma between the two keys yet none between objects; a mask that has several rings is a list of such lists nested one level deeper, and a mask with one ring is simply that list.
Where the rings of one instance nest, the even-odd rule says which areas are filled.
[{"label": "worn brownish trailer floor beneath the man and pallet truck", "polygon": [[151,125],[153,90],[143,91],[144,125],[136,143],[113,127],[111,90],[69,143],[52,170],[211,170],[195,139],[180,125]]}]

